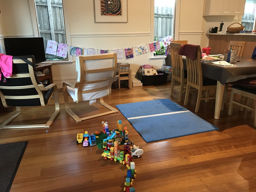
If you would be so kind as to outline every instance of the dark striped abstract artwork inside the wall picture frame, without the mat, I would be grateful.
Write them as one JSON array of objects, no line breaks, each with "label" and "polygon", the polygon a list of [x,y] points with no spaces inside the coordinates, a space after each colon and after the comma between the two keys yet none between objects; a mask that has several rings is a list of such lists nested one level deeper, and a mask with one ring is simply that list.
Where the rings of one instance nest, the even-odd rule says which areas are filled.
[{"label": "dark striped abstract artwork inside the wall picture frame, without the mat", "polygon": [[122,15],[121,0],[100,0],[101,15]]}]

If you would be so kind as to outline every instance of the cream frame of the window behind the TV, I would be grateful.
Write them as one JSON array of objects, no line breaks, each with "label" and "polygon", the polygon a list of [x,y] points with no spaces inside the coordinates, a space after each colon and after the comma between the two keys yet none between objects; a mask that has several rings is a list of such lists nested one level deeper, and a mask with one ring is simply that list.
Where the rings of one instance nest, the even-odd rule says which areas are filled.
[{"label": "cream frame of the window behind the TV", "polygon": [[[33,33],[35,37],[39,37],[39,31],[37,27],[37,20],[36,20],[36,8],[35,8],[35,1],[34,0],[28,0],[29,9],[30,9],[30,15],[31,15],[31,21],[32,21],[32,27],[33,27]],[[69,28],[69,18],[68,18],[68,10],[67,10],[67,0],[62,0],[62,6],[63,6],[63,14],[64,14],[64,23],[65,23],[65,33],[66,33],[66,41],[67,44],[71,44],[71,38],[70,38],[70,28]],[[73,57],[68,54],[68,60],[49,60],[45,62],[51,62],[51,63],[73,63]]]}]

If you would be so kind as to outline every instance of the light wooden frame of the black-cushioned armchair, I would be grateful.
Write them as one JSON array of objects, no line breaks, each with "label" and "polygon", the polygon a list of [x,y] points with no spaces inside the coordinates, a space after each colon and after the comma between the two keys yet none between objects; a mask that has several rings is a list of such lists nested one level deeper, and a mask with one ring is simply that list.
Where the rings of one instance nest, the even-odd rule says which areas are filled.
[{"label": "light wooden frame of the black-cushioned armchair", "polygon": [[[12,104],[13,100],[19,100],[19,106],[13,106],[16,107],[16,110],[14,110],[13,112],[9,113],[9,115],[11,114],[11,116],[6,119],[2,124],[0,124],[0,129],[10,129],[10,128],[38,128],[38,127],[42,127],[42,128],[49,128],[50,125],[52,124],[52,122],[54,121],[54,119],[56,118],[56,116],[59,114],[60,112],[60,104],[59,104],[59,95],[58,95],[58,89],[57,89],[57,85],[56,84],[49,84],[48,86],[44,87],[43,84],[40,84],[36,73],[34,72],[35,69],[35,63],[33,62],[33,57],[27,58],[27,59],[13,59],[13,65],[26,65],[28,67],[28,72],[24,73],[17,73],[17,74],[13,74],[10,77],[7,77],[7,81],[10,81],[12,78],[19,78],[20,81],[22,81],[22,79],[24,78],[30,78],[31,79],[31,84],[29,85],[19,85],[19,86],[4,86],[4,83],[0,85],[0,97],[2,100],[2,104],[4,107],[10,107],[13,105],[8,105],[9,103]],[[34,66],[33,66],[34,65]],[[19,68],[19,67],[18,67]],[[50,96],[48,96],[48,100],[45,101],[44,98],[44,94],[43,92],[46,92],[48,90],[50,90],[51,88],[53,88],[53,91],[51,92]],[[26,94],[26,90],[31,90],[34,89],[35,94],[33,95],[28,95]],[[3,92],[8,92],[12,90],[17,90],[17,92],[22,92],[21,94],[16,94],[14,93],[14,95],[7,95],[4,94]],[[54,101],[55,101],[55,112],[52,114],[52,116],[50,117],[50,119],[47,121],[46,124],[25,124],[25,125],[8,125],[14,118],[16,118],[18,115],[20,115],[20,108],[21,107],[35,107],[35,106],[39,106],[39,105],[32,105],[32,106],[28,106],[28,102],[29,100],[38,100],[37,103],[40,103],[42,107],[45,107],[49,100],[52,97],[52,94],[54,93]],[[23,105],[23,101],[27,100],[26,104]],[[40,101],[39,101],[40,100]],[[15,101],[14,101],[15,102]]]}]

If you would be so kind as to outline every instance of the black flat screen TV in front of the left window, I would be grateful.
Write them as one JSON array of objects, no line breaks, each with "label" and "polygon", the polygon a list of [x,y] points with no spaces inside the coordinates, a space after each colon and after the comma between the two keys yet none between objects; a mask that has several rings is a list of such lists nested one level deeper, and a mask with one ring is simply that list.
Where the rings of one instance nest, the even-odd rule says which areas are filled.
[{"label": "black flat screen TV in front of the left window", "polygon": [[4,38],[6,55],[34,55],[36,63],[45,61],[43,37]]}]

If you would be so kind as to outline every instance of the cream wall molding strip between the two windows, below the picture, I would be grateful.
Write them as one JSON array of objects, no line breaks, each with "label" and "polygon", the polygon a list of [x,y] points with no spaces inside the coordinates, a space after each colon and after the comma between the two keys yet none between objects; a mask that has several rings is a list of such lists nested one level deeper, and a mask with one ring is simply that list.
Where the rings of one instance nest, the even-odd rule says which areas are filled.
[{"label": "cream wall molding strip between the two windows, below the picture", "polygon": [[135,33],[71,33],[71,38],[78,37],[124,37],[124,36],[150,36],[150,32],[135,32]]}]

